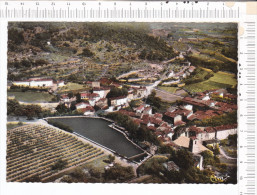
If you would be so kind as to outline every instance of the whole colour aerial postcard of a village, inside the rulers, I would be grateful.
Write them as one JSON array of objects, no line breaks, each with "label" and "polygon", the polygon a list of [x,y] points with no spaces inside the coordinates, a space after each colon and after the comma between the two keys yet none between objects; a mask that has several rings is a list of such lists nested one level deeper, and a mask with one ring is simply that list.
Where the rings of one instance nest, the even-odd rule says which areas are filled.
[{"label": "whole colour aerial postcard of a village, inside the rulers", "polygon": [[237,34],[9,22],[6,181],[236,184]]}]

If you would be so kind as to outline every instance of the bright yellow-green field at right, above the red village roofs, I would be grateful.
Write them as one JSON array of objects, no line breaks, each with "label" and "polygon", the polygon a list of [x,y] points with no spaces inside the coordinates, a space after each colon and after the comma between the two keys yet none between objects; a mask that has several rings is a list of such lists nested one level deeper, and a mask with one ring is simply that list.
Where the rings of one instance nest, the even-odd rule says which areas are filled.
[{"label": "bright yellow-green field at right, above the red village roofs", "polygon": [[202,92],[210,89],[230,88],[237,84],[237,80],[233,74],[225,72],[214,73],[210,79],[184,86],[189,92]]}]

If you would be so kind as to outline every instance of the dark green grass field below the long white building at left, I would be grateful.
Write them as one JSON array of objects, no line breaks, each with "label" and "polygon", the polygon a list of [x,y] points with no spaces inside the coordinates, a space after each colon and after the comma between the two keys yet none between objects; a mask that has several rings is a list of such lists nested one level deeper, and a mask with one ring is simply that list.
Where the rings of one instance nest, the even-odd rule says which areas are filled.
[{"label": "dark green grass field below the long white building at left", "polygon": [[15,96],[15,99],[21,102],[50,102],[53,95],[44,92],[7,92],[8,96]]}]

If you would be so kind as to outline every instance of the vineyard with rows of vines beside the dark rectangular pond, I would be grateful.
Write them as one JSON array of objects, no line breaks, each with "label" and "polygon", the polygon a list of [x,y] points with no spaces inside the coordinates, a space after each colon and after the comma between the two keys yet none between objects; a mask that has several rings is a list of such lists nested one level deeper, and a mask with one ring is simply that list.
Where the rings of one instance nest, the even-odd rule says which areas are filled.
[{"label": "vineyard with rows of vines beside the dark rectangular pond", "polygon": [[103,155],[100,149],[62,130],[43,125],[26,125],[7,131],[7,181],[44,181],[60,169],[68,169]]}]

